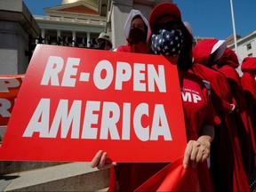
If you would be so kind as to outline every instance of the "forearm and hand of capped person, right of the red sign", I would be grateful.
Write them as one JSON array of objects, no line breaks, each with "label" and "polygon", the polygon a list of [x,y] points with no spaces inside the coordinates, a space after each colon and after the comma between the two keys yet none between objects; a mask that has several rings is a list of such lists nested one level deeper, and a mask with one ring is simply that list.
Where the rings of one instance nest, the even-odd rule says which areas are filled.
[{"label": "forearm and hand of capped person, right of the red sign", "polygon": [[206,161],[210,156],[211,142],[214,138],[214,126],[205,124],[201,136],[197,140],[189,140],[185,149],[183,166],[196,167],[196,164]]}]

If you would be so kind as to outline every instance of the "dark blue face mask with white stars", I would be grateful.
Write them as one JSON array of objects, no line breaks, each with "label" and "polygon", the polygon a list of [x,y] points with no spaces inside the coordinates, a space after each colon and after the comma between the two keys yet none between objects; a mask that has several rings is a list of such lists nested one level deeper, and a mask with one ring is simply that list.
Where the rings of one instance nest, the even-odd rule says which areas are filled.
[{"label": "dark blue face mask with white stars", "polygon": [[175,29],[160,29],[151,37],[151,49],[155,54],[177,56],[180,54],[182,43],[182,33]]}]

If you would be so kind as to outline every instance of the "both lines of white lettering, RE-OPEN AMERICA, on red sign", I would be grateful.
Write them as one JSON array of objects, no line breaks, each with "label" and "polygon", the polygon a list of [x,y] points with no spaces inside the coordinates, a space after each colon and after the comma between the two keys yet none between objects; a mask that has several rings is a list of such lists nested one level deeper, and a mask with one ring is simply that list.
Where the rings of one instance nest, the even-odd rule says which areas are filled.
[{"label": "both lines of white lettering, RE-OPEN AMERICA, on red sign", "polygon": [[[114,68],[110,61],[100,60],[90,74],[79,72],[79,67],[82,68],[80,62],[79,58],[69,57],[65,63],[59,56],[50,56],[40,85],[76,87],[79,83],[89,82],[92,75],[91,83],[98,90],[107,90],[110,84],[115,84],[115,90],[122,91],[125,90],[124,83],[131,81],[134,92],[166,92],[164,65],[131,65],[116,61]],[[57,108],[53,108],[52,102],[49,98],[41,98],[23,137],[33,137],[34,133],[38,133],[40,138],[130,140],[131,132],[134,132],[136,138],[142,141],[159,138],[172,140],[164,105],[161,103],[149,107],[145,102],[134,104],[109,100],[60,99]],[[145,116],[152,121],[143,124]]]}]

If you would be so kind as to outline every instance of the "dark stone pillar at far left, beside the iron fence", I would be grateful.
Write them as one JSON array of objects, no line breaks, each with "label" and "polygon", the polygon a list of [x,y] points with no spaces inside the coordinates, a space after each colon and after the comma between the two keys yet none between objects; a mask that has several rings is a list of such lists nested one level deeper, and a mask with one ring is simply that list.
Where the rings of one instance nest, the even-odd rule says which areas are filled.
[{"label": "dark stone pillar at far left, beside the iron fence", "polygon": [[0,75],[23,74],[40,28],[22,0],[0,1]]}]

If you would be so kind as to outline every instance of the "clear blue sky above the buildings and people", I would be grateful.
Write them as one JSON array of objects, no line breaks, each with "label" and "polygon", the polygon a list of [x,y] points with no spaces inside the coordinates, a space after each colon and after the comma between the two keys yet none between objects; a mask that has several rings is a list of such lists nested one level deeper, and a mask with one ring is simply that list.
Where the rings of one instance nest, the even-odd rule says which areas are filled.
[{"label": "clear blue sky above the buildings and people", "polygon": [[[62,0],[23,0],[33,15],[45,15],[44,8],[60,5]],[[256,0],[231,0],[236,34],[247,36],[256,30]],[[188,21],[194,36],[226,39],[233,36],[230,0],[173,0]]]}]

